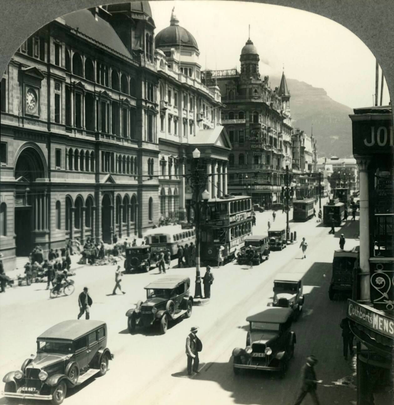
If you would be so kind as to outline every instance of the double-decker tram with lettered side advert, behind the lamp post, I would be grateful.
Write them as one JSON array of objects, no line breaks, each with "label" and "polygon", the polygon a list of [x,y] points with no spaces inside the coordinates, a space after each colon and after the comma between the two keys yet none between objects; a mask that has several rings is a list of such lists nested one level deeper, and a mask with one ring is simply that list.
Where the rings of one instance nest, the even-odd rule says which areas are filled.
[{"label": "double-decker tram with lettered side advert, behind the lamp post", "polygon": [[208,200],[200,229],[201,260],[215,262],[221,246],[226,260],[233,255],[235,247],[252,234],[252,198],[224,196]]}]

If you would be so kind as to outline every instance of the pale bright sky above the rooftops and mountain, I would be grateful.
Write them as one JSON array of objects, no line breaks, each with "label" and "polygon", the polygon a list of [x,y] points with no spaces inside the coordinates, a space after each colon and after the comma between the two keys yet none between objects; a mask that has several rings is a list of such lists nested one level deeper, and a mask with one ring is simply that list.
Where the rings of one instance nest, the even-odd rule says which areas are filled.
[{"label": "pale bright sky above the rooftops and mountain", "polygon": [[[262,76],[280,75],[284,65],[286,77],[323,87],[328,96],[342,104],[351,108],[372,105],[375,57],[357,36],[330,19],[249,2],[182,0],[150,5],[156,34],[170,25],[175,6],[180,25],[197,40],[203,69],[239,68],[250,24]],[[383,105],[388,102],[385,85]]]}]

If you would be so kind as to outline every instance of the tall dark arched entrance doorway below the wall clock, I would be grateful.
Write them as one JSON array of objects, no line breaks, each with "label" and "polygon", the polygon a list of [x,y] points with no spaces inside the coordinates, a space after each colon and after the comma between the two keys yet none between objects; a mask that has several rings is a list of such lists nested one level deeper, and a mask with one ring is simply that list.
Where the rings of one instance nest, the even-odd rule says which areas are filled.
[{"label": "tall dark arched entrance doorway below the wall clock", "polygon": [[45,232],[48,232],[49,195],[42,184],[34,183],[37,178],[43,177],[45,168],[39,153],[33,147],[26,147],[15,164],[16,256],[28,256],[36,237],[45,241]]}]

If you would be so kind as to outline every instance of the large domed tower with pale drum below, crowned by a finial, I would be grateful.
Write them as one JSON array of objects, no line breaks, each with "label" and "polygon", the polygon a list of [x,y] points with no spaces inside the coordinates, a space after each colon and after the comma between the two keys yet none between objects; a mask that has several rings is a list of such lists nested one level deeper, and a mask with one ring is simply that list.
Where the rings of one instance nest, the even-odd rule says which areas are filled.
[{"label": "large domed tower with pale drum below, crowned by a finial", "polygon": [[155,36],[155,47],[164,52],[173,70],[200,79],[201,65],[198,64],[200,51],[197,41],[189,31],[179,25],[174,9],[171,13],[170,26]]}]

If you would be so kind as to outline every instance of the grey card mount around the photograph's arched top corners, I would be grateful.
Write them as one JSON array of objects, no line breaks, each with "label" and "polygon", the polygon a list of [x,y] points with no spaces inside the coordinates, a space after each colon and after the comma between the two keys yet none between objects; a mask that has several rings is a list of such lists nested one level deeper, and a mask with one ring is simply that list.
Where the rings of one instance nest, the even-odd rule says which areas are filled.
[{"label": "grey card mount around the photograph's arched top corners", "polygon": [[[151,0],[160,1],[160,0]],[[194,0],[199,1],[199,0]],[[222,0],[229,1],[229,0]],[[244,1],[244,0],[241,0]],[[248,1],[248,0],[246,0]],[[110,3],[108,0],[104,3]],[[263,4],[288,6],[327,17],[353,32],[377,58],[388,84],[390,99],[394,92],[394,2],[358,0],[336,2],[321,0],[254,0]],[[4,72],[17,48],[39,28],[57,17],[80,9],[104,4],[98,0],[3,0],[0,15],[0,72]],[[231,6],[231,3],[228,4]],[[26,18],[28,15],[28,18]],[[371,66],[373,69],[374,66]],[[1,75],[2,76],[2,75]]]}]

